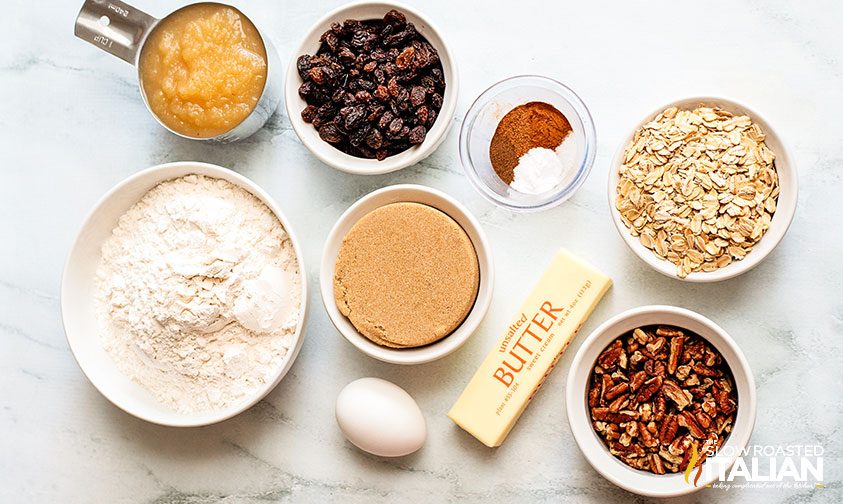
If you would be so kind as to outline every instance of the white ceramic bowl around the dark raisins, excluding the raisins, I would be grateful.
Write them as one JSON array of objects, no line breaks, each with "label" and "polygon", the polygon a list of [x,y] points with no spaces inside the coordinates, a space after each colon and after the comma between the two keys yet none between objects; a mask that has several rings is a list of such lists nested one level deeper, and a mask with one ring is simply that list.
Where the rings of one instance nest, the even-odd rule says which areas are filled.
[{"label": "white ceramic bowl around the dark raisins, excluding the raisins", "polygon": [[[319,138],[316,128],[302,120],[301,111],[304,110],[307,103],[299,96],[299,86],[302,84],[302,79],[298,73],[296,60],[302,54],[316,54],[316,51],[319,50],[319,37],[331,27],[331,23],[341,23],[346,19],[366,20],[382,18],[391,9],[397,9],[403,12],[407,17],[407,21],[413,23],[418,32],[439,51],[439,58],[442,60],[442,70],[445,76],[445,93],[442,95],[442,109],[439,111],[439,115],[433,123],[433,128],[427,132],[427,137],[420,145],[390,156],[383,161],[358,158],[340,151]],[[454,57],[451,55],[448,46],[445,45],[439,32],[426,17],[411,7],[395,2],[354,2],[332,10],[317,21],[307,32],[301,45],[293,53],[293,59],[287,68],[284,99],[287,104],[287,115],[290,117],[293,130],[299,136],[305,147],[323,163],[347,173],[378,175],[414,165],[436,150],[439,144],[445,139],[445,134],[448,133],[453,122],[454,110],[457,106],[458,89],[459,79]]]}]

